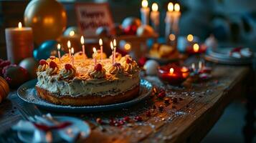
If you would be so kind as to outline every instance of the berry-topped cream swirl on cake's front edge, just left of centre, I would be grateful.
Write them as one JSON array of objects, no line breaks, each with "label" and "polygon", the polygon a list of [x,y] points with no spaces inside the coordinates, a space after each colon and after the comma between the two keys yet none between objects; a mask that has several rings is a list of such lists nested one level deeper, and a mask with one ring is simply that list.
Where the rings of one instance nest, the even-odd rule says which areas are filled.
[{"label": "berry-topped cream swirl on cake's front edge, just left of centre", "polygon": [[71,64],[65,64],[65,68],[60,71],[59,79],[72,79],[75,77],[76,69]]}]

